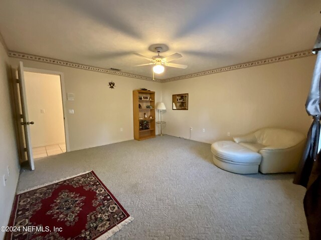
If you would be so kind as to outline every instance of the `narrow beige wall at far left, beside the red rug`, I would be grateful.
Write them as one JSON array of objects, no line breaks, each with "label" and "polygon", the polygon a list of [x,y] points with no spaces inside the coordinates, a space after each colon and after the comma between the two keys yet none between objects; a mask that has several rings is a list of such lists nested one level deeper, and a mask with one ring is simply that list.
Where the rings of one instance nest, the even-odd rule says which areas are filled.
[{"label": "narrow beige wall at far left, beside the red rug", "polygon": [[[7,53],[0,43],[0,226],[7,226],[13,204],[18,177],[19,159],[15,138],[13,113],[10,94],[11,68]],[[7,173],[10,168],[10,175]],[[3,175],[6,175],[6,186]],[[0,231],[0,239],[5,232]]]}]

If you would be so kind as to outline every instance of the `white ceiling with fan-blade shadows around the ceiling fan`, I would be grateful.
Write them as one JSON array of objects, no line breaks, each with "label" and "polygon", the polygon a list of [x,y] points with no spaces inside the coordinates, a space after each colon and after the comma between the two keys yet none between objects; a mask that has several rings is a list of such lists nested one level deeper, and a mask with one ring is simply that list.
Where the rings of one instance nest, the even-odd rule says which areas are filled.
[{"label": "white ceiling with fan-blade shadows around the ceiling fan", "polygon": [[183,58],[170,77],[313,47],[319,0],[1,0],[10,50],[151,76],[132,53],[165,43]]}]

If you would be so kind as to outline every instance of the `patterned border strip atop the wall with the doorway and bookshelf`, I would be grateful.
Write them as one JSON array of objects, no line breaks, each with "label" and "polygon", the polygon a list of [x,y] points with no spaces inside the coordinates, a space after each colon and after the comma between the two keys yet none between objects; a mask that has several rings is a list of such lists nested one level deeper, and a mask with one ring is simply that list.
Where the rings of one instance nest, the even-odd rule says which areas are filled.
[{"label": "patterned border strip atop the wall with the doorway and bookshelf", "polygon": [[114,75],[118,75],[118,76],[127,76],[127,77],[142,79],[142,80],[161,82],[161,80],[159,80],[159,79],[153,80],[151,77],[147,77],[147,76],[141,76],[141,75],[136,75],[136,74],[122,72],[122,71],[113,71],[113,70],[110,70],[107,68],[90,66],[90,65],[85,65],[85,64],[81,64],[81,63],[64,61],[64,60],[60,60],[60,59],[55,59],[55,58],[50,58],[50,57],[45,57],[45,56],[38,56],[38,55],[23,53],[23,52],[18,52],[18,51],[8,50],[8,55],[10,57],[23,58],[23,59],[33,60],[33,61],[40,61],[40,62],[45,62],[45,63],[50,63],[50,64],[61,65],[61,66],[69,66],[69,67],[73,67],[73,68],[79,68],[79,69],[90,70],[90,71],[98,71],[98,72],[114,74]]}]

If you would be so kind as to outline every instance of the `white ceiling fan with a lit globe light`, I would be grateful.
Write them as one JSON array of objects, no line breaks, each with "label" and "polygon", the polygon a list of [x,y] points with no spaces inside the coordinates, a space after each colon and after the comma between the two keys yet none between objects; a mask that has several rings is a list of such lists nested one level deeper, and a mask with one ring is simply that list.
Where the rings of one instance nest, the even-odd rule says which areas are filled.
[{"label": "white ceiling fan with a lit globe light", "polygon": [[169,47],[165,44],[153,44],[153,45],[150,45],[148,47],[148,49],[153,52],[157,52],[157,55],[152,56],[150,58],[150,57],[141,55],[139,53],[134,53],[136,56],[145,58],[150,61],[149,63],[140,64],[140,65],[136,65],[136,66],[154,65],[152,70],[153,70],[153,73],[156,73],[156,74],[163,73],[165,70],[164,66],[177,67],[177,68],[183,68],[183,69],[185,69],[187,67],[187,65],[170,62],[170,61],[182,58],[183,56],[180,53],[174,53],[174,54],[167,56],[167,57],[159,55],[160,52],[164,52],[169,49]]}]

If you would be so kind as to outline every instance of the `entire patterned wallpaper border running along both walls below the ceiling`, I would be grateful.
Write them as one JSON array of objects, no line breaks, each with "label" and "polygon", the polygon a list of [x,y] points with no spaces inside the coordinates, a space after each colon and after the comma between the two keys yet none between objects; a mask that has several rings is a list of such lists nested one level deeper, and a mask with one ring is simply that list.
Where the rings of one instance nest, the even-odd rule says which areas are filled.
[{"label": "entire patterned wallpaper border running along both walls below the ceiling", "polygon": [[133,77],[133,78],[138,78],[138,79],[143,79],[143,80],[148,80],[148,81],[168,82],[168,81],[177,81],[177,80],[191,78],[191,77],[204,76],[204,75],[209,75],[209,74],[214,74],[214,73],[219,73],[219,72],[224,72],[224,71],[231,71],[231,70],[236,70],[236,69],[241,69],[241,68],[246,68],[246,67],[270,64],[270,63],[279,62],[279,61],[286,61],[286,60],[311,56],[311,55],[313,55],[313,53],[312,53],[311,49],[308,49],[308,50],[283,54],[283,55],[279,55],[279,56],[268,57],[268,58],[264,58],[264,59],[260,59],[260,60],[256,60],[256,61],[248,61],[248,62],[239,63],[239,64],[235,64],[235,65],[214,68],[211,70],[201,71],[201,72],[192,73],[192,74],[188,74],[188,75],[176,76],[176,77],[171,77],[171,78],[167,78],[167,79],[155,79],[155,80],[152,80],[151,77],[147,77],[147,76],[141,76],[141,75],[136,75],[136,74],[127,73],[127,72],[121,72],[121,71],[113,71],[113,70],[110,70],[107,68],[84,65],[84,64],[80,64],[80,63],[64,61],[64,60],[59,60],[59,59],[45,57],[45,56],[38,56],[38,55],[33,55],[33,54],[28,54],[28,53],[23,53],[23,52],[8,50],[8,55],[10,57],[17,57],[17,58],[46,62],[46,63],[56,64],[56,65],[69,66],[69,67],[74,67],[74,68],[90,70],[90,71],[98,71],[98,72],[103,72],[103,73],[108,73],[108,74],[119,75],[119,76]]}]

